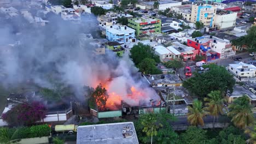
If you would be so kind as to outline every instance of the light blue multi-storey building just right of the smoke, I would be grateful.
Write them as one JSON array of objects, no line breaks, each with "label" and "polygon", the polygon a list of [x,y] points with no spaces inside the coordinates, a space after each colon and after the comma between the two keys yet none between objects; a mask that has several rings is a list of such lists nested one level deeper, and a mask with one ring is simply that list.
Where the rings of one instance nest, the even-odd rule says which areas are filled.
[{"label": "light blue multi-storey building just right of the smoke", "polygon": [[118,41],[120,44],[135,42],[135,30],[121,25],[107,26],[106,38],[109,41]]}]

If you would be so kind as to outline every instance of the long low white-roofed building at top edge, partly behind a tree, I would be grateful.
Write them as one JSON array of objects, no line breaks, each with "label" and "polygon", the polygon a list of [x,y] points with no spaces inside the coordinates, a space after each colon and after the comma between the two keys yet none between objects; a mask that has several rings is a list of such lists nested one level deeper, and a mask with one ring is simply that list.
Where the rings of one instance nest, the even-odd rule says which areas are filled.
[{"label": "long low white-roofed building at top edge, partly behind a tree", "polygon": [[[158,1],[159,2],[159,10],[166,10],[167,8],[175,7],[177,5],[182,5],[182,2],[165,0]],[[154,9],[154,2],[139,2],[136,4],[136,7],[140,7],[141,9]]]}]

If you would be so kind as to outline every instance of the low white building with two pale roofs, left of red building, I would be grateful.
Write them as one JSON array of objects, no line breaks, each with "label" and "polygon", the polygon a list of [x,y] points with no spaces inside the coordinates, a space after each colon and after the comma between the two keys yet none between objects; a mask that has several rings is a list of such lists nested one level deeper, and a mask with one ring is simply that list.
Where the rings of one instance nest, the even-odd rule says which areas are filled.
[{"label": "low white building with two pale roofs, left of red building", "polygon": [[161,62],[167,62],[171,59],[178,58],[181,53],[174,49],[172,46],[155,46],[155,54],[159,56]]}]

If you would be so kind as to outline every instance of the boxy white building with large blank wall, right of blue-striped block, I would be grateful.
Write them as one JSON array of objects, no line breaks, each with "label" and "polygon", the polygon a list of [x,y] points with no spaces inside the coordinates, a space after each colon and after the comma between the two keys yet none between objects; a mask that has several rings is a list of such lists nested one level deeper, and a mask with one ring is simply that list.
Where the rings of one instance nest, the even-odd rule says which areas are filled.
[{"label": "boxy white building with large blank wall, right of blue-striped block", "polygon": [[236,25],[237,13],[226,10],[217,10],[214,25],[218,29],[228,28]]}]

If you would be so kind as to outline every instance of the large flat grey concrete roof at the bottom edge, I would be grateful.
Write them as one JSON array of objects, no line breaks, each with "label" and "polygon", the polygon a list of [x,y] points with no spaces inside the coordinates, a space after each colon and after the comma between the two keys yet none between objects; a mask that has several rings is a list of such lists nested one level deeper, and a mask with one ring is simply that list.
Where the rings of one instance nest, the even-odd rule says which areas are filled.
[{"label": "large flat grey concrete roof at the bottom edge", "polygon": [[136,144],[138,138],[133,122],[79,126],[77,144]]}]

